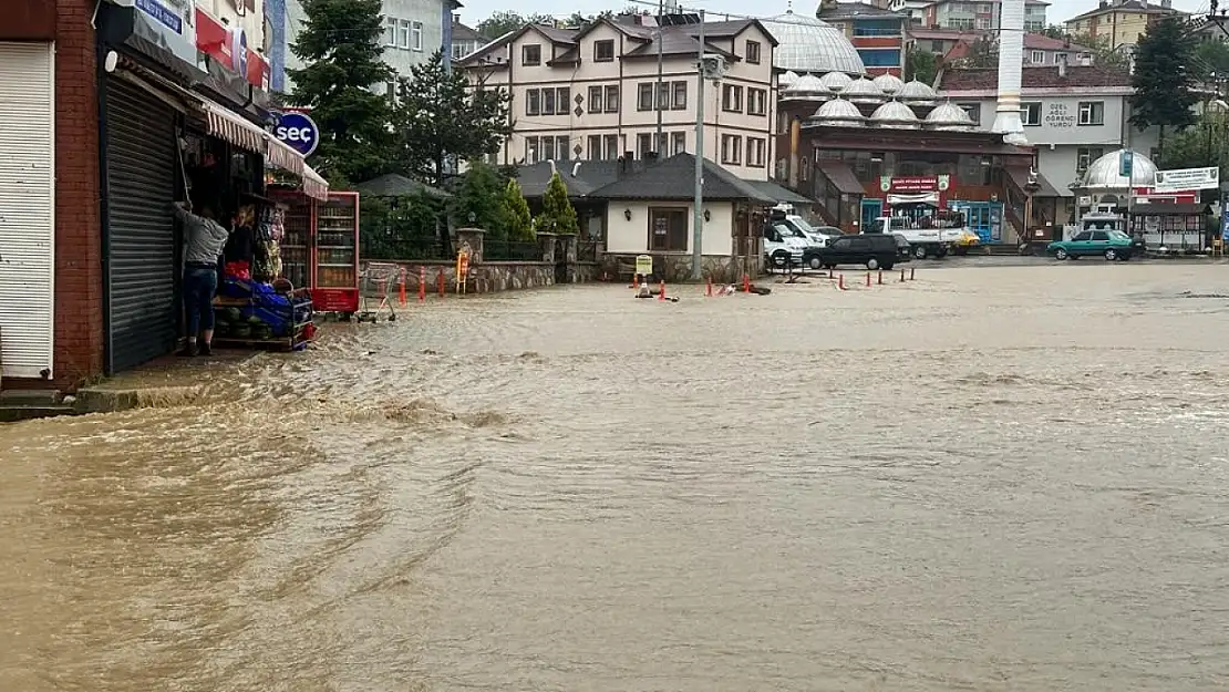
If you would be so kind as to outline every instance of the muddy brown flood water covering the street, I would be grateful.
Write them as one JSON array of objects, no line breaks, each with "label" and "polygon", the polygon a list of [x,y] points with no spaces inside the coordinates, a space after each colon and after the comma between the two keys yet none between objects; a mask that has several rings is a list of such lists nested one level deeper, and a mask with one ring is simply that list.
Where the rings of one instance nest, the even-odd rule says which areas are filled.
[{"label": "muddy brown flood water covering the street", "polygon": [[1229,688],[1229,267],[916,267],[0,427],[0,690]]}]

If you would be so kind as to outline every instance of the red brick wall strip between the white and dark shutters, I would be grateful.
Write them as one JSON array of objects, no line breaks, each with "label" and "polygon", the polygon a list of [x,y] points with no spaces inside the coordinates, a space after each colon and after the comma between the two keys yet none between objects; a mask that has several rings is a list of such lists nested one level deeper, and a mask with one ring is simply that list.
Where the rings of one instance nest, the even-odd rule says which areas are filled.
[{"label": "red brick wall strip between the white and dark shutters", "polygon": [[[55,0],[52,0],[55,1]],[[102,372],[102,226],[95,0],[58,0],[55,37],[55,383]]]}]

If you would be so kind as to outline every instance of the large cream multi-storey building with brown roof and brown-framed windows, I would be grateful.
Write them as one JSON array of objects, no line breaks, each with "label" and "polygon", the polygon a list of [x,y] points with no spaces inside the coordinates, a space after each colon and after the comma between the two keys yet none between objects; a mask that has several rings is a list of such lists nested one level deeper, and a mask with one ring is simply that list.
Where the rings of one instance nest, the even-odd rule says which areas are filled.
[{"label": "large cream multi-storey building with brown roof and brown-framed windows", "polygon": [[[528,25],[457,63],[473,84],[511,95],[514,132],[497,162],[694,154],[699,26],[655,25],[648,16],[579,29]],[[756,20],[708,22],[704,34],[705,54],[725,63],[720,80],[704,82],[704,156],[740,178],[767,179],[777,41]]]}]

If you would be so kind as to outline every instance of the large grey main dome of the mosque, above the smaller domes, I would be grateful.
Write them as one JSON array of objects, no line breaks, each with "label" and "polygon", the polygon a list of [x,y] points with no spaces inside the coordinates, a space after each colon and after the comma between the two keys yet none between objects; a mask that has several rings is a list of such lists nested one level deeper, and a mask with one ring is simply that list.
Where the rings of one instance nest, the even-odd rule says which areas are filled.
[{"label": "large grey main dome of the mosque, above the smaller domes", "polygon": [[794,12],[760,22],[777,39],[772,66],[778,70],[817,75],[833,71],[860,75],[866,71],[853,43],[828,22]]}]

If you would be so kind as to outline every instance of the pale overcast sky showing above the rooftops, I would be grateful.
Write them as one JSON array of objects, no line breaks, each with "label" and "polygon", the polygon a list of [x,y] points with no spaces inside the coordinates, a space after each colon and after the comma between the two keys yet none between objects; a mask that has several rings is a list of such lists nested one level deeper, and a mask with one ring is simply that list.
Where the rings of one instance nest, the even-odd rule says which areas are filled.
[{"label": "pale overcast sky showing above the rooftops", "polygon": [[[474,26],[485,17],[490,16],[492,12],[498,12],[500,10],[516,10],[521,14],[543,14],[554,15],[560,18],[567,17],[571,12],[580,11],[586,15],[594,15],[601,12],[602,10],[621,10],[623,9],[624,0],[521,0],[520,2],[509,2],[508,0],[461,0],[465,5],[461,7],[461,21],[469,26]],[[1153,0],[1159,2],[1160,0]],[[654,5],[656,2],[654,1]],[[1097,0],[1051,0],[1048,18],[1053,23],[1062,22],[1063,20],[1074,17],[1082,12],[1086,12],[1095,7]],[[650,5],[640,5],[648,9]],[[758,15],[779,15],[783,14],[787,7],[787,0],[768,0],[763,4],[748,4],[746,0],[682,0],[680,5],[685,7],[703,9],[709,12],[731,12],[737,15],[746,14],[758,14]],[[1229,5],[1227,0],[1225,5]],[[801,14],[804,9],[809,14],[815,12],[815,7],[819,6],[817,2],[795,2],[794,11]],[[1187,12],[1206,12],[1208,10],[1207,0],[1174,0],[1174,6],[1179,10],[1185,10]]]}]

